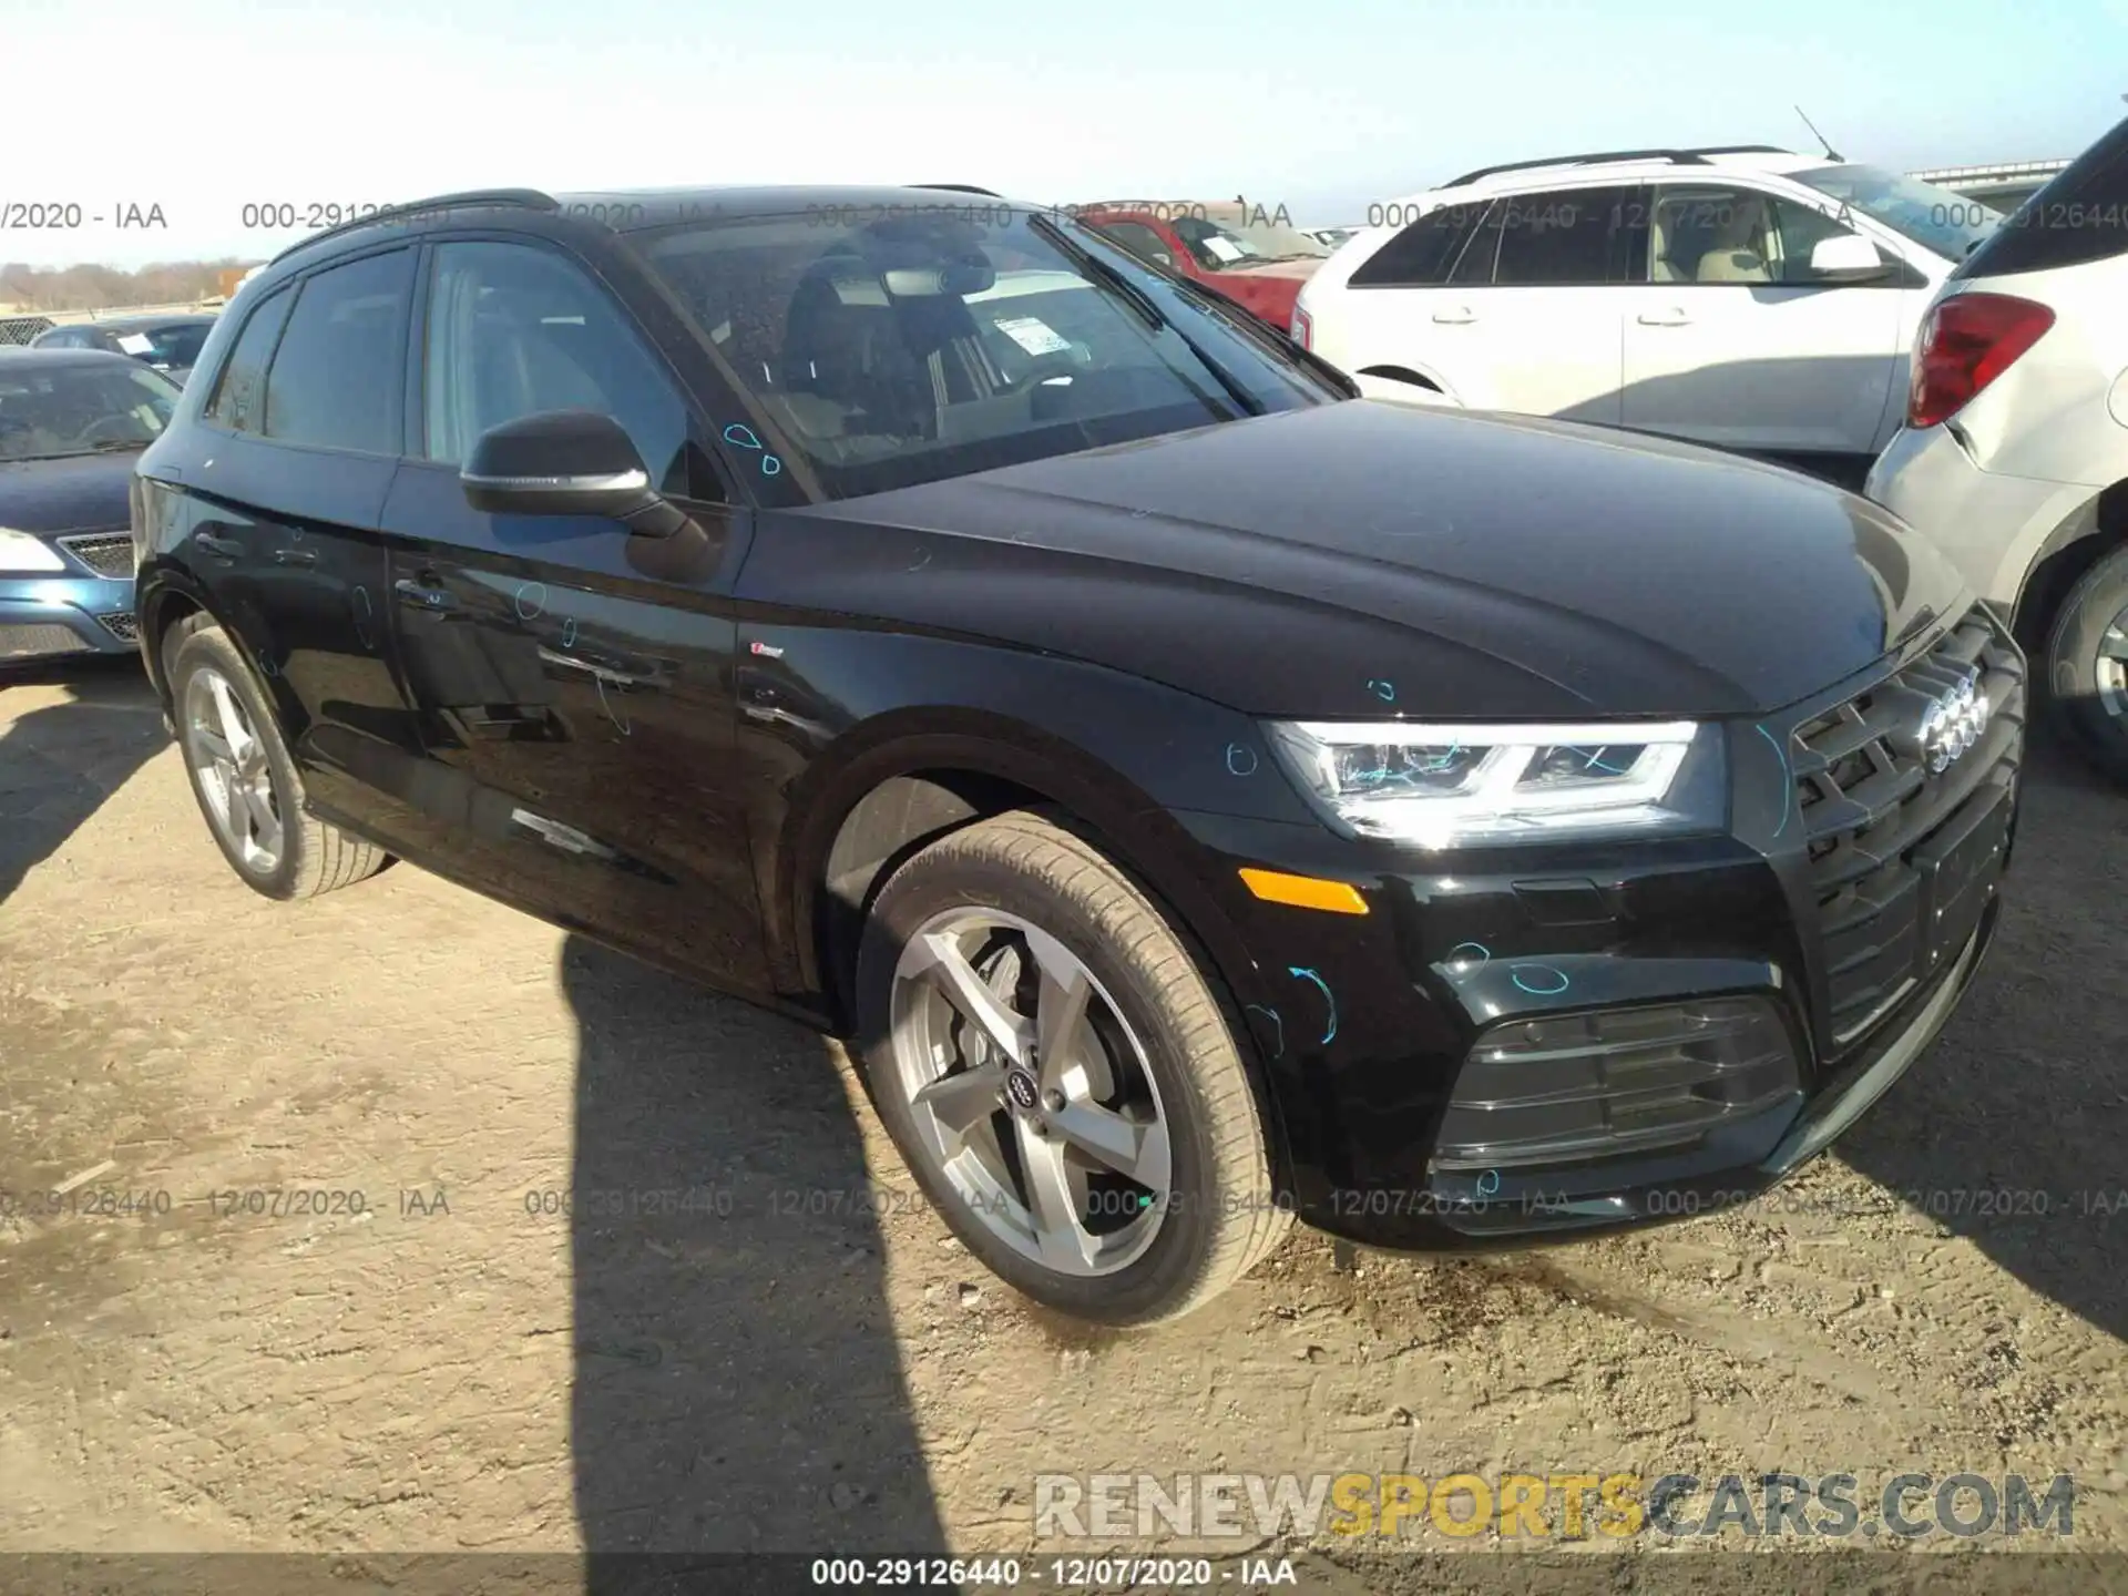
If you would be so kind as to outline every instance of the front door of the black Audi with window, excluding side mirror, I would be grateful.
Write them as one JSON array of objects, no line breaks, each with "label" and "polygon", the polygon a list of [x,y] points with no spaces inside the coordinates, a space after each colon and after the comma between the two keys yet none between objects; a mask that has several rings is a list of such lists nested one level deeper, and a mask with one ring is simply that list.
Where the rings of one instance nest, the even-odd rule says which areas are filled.
[{"label": "front door of the black Audi with window, excluding side mirror", "polygon": [[[745,521],[702,417],[613,289],[526,238],[430,249],[392,487],[392,615],[449,875],[741,992],[766,990],[734,760],[728,598]],[[489,428],[615,417],[696,521],[487,515],[458,481]]]}]

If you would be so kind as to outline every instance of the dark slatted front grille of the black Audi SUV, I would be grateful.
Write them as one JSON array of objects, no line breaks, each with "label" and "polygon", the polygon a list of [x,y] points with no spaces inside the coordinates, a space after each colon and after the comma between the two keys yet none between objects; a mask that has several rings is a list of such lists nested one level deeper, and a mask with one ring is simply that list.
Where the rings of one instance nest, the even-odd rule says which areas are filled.
[{"label": "dark slatted front grille of the black Audi SUV", "polygon": [[[1932,768],[1924,715],[1968,677],[1988,696],[1988,726]],[[1919,660],[1792,732],[1834,1051],[1958,951],[1943,934],[1975,919],[1992,892],[2024,717],[2024,660],[1975,609]]]}]

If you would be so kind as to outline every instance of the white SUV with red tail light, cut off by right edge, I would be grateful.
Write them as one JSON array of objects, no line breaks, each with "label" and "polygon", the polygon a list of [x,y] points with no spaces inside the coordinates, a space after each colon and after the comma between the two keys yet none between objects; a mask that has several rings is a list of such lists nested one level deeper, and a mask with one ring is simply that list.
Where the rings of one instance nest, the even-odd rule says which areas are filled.
[{"label": "white SUV with red tail light, cut off by right edge", "polygon": [[2128,781],[2128,121],[1951,272],[1864,492],[2015,617]]}]

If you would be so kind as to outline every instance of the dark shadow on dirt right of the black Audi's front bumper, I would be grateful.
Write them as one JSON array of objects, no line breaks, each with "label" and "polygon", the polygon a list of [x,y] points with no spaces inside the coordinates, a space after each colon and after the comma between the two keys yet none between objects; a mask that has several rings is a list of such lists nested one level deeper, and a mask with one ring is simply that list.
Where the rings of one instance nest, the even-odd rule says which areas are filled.
[{"label": "dark shadow on dirt right of the black Audi's front bumper", "polygon": [[1936,1045],[1834,1149],[2117,1339],[2128,1339],[2124,821],[2128,789],[2041,730],[1996,945]]}]

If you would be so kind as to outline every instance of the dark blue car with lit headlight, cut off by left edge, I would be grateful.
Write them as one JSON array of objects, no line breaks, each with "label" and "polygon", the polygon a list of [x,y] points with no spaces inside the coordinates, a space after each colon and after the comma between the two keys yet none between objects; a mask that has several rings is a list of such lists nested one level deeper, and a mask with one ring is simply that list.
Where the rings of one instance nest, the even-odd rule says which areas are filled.
[{"label": "dark blue car with lit headlight, cut off by left edge", "polygon": [[134,462],[166,377],[87,349],[0,349],[0,664],[134,653]]}]

